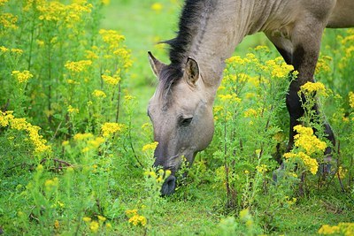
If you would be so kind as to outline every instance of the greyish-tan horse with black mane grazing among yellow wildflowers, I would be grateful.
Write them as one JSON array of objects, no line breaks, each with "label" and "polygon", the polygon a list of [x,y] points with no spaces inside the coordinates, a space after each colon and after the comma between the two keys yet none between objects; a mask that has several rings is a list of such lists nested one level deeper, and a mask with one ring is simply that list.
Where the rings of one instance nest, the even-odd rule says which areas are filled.
[{"label": "greyish-tan horse with black mane grazing among yellow wildflowers", "polygon": [[[165,179],[162,194],[173,194],[182,156],[192,164],[196,153],[212,141],[212,104],[225,59],[248,34],[264,32],[286,63],[299,72],[286,97],[289,147],[293,146],[293,127],[304,114],[297,92],[304,83],[313,81],[325,27],[354,27],[354,0],[185,2],[179,32],[166,42],[170,46],[170,65],[149,52],[150,65],[158,77],[158,88],[148,107],[154,139],[158,141],[154,165],[172,171]],[[335,143],[330,126],[325,127],[327,138]]]}]

